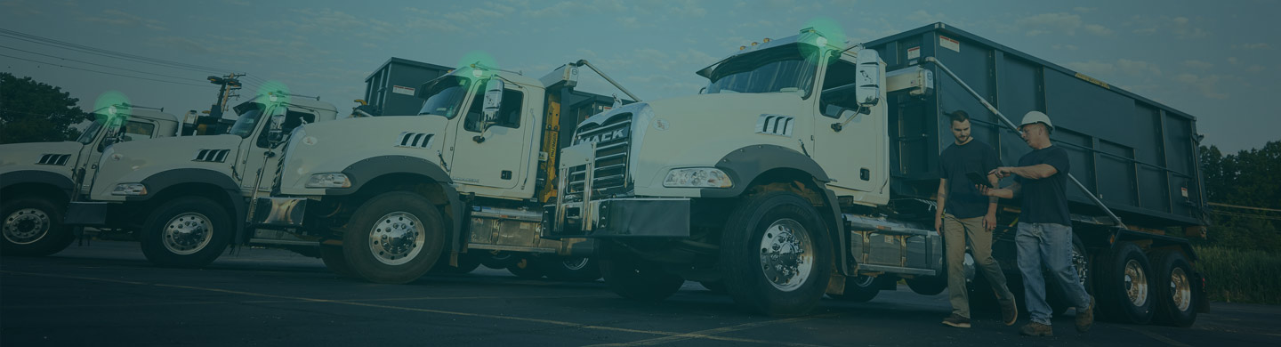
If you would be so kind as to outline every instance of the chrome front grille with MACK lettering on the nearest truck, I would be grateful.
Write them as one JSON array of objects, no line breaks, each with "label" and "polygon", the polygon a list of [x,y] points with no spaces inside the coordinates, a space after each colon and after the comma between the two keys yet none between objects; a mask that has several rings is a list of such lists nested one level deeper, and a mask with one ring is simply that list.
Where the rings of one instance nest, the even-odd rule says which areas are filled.
[{"label": "chrome front grille with MACK lettering on the nearest truck", "polygon": [[[621,113],[602,124],[583,124],[574,134],[574,145],[596,142],[596,170],[592,174],[592,198],[606,198],[629,188],[628,155],[632,151],[632,114]],[[583,196],[587,166],[569,169],[566,201]]]}]

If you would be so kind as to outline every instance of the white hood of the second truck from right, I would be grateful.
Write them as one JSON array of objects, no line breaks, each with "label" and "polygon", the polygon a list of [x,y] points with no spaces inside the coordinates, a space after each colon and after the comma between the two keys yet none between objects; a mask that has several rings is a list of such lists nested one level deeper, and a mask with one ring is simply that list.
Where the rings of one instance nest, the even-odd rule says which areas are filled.
[{"label": "white hood of the second truck from right", "polygon": [[351,118],[306,124],[290,136],[281,168],[281,192],[318,195],[305,188],[318,173],[342,173],[356,161],[410,156],[439,164],[450,119],[434,115]]}]

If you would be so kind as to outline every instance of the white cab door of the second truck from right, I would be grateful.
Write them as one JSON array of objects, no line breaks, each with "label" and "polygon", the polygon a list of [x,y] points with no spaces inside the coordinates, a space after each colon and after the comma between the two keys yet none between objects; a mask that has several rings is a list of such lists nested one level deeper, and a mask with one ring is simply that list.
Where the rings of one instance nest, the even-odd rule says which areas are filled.
[{"label": "white cab door of the second truck from right", "polygon": [[[484,83],[478,83],[484,86]],[[515,83],[509,87],[518,87]],[[498,120],[484,128],[483,104],[484,88],[475,93],[468,113],[459,122],[453,137],[453,157],[450,163],[451,177],[457,183],[496,188],[515,188],[528,170],[529,146],[533,146],[526,119],[530,111],[523,111],[528,105],[529,88],[506,88],[502,104],[498,106]],[[482,133],[483,132],[483,133]]]}]

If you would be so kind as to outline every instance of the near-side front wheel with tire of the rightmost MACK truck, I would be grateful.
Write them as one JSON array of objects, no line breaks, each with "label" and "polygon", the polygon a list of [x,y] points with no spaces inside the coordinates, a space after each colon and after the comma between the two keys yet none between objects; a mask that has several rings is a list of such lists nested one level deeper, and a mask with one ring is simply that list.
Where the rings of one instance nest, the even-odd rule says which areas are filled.
[{"label": "near-side front wheel with tire of the rightmost MACK truck", "polygon": [[747,197],[721,237],[720,265],[739,306],[771,316],[802,315],[819,305],[831,273],[826,224],[792,192]]}]

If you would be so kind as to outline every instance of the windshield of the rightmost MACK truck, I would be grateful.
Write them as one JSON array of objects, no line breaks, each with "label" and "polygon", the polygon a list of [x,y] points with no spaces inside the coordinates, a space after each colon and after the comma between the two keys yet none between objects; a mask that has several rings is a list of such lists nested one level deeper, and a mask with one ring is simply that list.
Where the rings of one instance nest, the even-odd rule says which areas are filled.
[{"label": "windshield of the rightmost MACK truck", "polygon": [[801,92],[810,97],[817,64],[798,45],[746,54],[721,63],[711,73],[707,93]]}]

